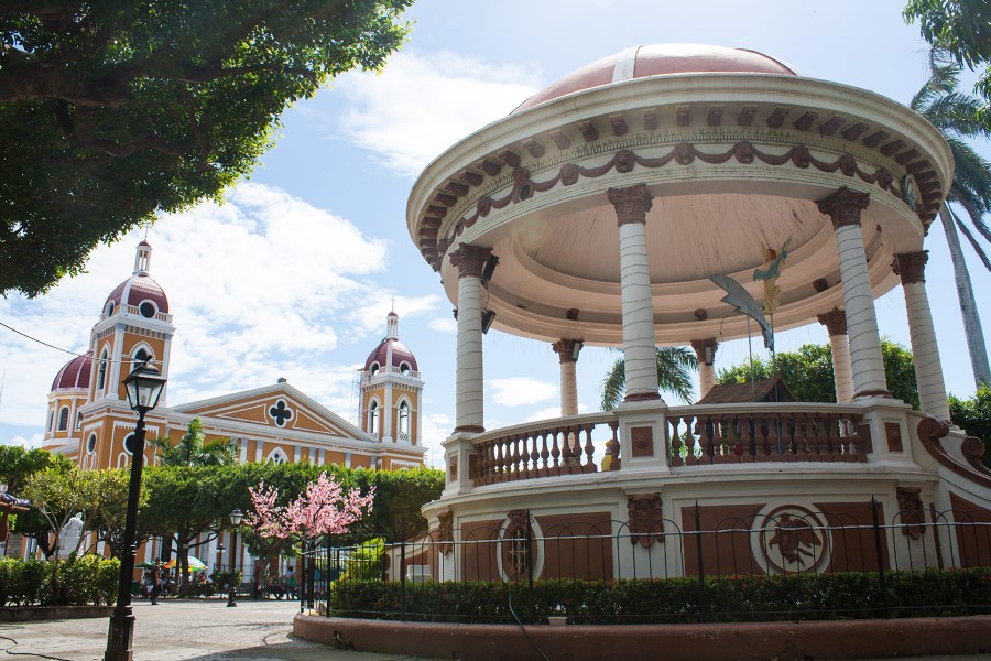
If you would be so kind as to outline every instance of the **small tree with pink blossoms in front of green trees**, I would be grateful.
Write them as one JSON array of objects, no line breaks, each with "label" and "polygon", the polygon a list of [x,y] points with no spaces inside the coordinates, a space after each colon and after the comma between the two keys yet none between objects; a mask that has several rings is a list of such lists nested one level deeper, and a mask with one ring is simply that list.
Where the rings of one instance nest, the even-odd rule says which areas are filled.
[{"label": "small tree with pink blossoms in front of green trees", "polygon": [[[252,511],[244,516],[244,524],[252,528],[255,549],[263,560],[271,560],[287,544],[301,542],[304,551],[315,548],[326,534],[341,534],[371,511],[374,487],[362,496],[357,489],[345,491],[326,473],[288,505],[279,505],[279,489],[260,483],[248,487]],[[263,571],[268,562],[262,563]],[[257,576],[264,582],[265,576]]]}]

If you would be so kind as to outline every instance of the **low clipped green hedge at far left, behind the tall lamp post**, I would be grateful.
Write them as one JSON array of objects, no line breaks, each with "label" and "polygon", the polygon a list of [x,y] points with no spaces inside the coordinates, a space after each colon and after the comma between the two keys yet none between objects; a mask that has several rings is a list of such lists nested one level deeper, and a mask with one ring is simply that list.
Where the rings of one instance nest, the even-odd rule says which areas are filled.
[{"label": "low clipped green hedge at far left, behind the tall lamp post", "polygon": [[101,555],[73,555],[57,564],[0,557],[0,606],[113,605],[119,577],[120,561]]}]

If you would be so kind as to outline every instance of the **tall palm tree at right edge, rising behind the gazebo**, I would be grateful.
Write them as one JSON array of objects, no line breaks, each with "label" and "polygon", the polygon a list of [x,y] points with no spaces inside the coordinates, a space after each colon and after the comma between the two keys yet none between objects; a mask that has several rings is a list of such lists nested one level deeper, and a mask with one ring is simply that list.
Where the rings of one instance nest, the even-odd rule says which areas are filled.
[{"label": "tall palm tree at right edge, rising behind the gazebo", "polygon": [[954,212],[950,203],[958,204],[970,218],[973,230],[991,242],[991,230],[982,216],[991,212],[991,163],[981,158],[963,138],[991,138],[991,126],[984,121],[980,99],[957,90],[959,66],[950,56],[940,50],[929,53],[929,79],[912,98],[910,108],[935,126],[946,138],[954,154],[956,170],[949,195],[939,208],[939,219],[946,232],[950,259],[954,263],[954,275],[957,281],[957,295],[960,300],[960,313],[963,315],[963,330],[967,335],[967,348],[970,351],[970,364],[973,379],[978,387],[991,383],[991,368],[988,366],[988,349],[984,345],[984,333],[978,316],[973,286],[957,229],[967,237],[984,268],[991,271],[991,261],[980,242],[960,217]]}]

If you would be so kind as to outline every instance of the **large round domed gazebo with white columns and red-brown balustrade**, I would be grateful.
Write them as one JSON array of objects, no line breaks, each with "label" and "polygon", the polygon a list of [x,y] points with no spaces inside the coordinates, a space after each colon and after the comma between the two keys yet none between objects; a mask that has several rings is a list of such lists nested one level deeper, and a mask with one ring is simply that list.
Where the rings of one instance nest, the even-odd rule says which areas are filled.
[{"label": "large round domed gazebo with white columns and red-brown balustrade", "polygon": [[[410,235],[457,308],[447,488],[425,508],[434,534],[502,539],[525,518],[534,539],[576,527],[663,537],[783,513],[815,525],[878,509],[897,520],[906,508],[991,521],[983,447],[947,425],[924,278],[926,230],[951,177],[948,145],[904,106],[704,45],[593,62],[449,148],[407,205]],[[749,294],[742,303],[727,280]],[[899,284],[922,411],[885,382],[874,299]],[[749,333],[739,307],[763,307],[778,330],[826,325],[838,403],[667,405],[655,347],[690,344],[705,397],[718,343]],[[559,419],[484,429],[490,327],[558,354]],[[577,414],[575,365],[588,345],[623,349],[614,412]],[[941,534],[940,553],[938,535],[912,543],[945,565],[968,552],[991,560],[988,544]],[[672,546],[618,545],[600,577],[624,575],[636,554],[700,571]],[[748,562],[778,571],[778,551],[752,545]],[[892,544],[880,562],[902,552]],[[466,553],[439,554],[435,575],[467,576]],[[537,563],[548,551],[534,553]],[[813,564],[829,563],[825,553]]]}]

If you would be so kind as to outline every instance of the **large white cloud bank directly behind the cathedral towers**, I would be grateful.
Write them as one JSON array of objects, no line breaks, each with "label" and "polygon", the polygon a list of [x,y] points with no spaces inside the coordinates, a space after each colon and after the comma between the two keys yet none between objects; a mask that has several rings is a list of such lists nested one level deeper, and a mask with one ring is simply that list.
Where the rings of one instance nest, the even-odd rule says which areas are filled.
[{"label": "large white cloud bank directly behind the cathedral towers", "polygon": [[[0,321],[57,347],[85,353],[110,291],[131,274],[140,232],[98,248],[89,273],[34,300],[0,299]],[[352,365],[329,354],[378,292],[384,241],[284,191],[242,183],[218,205],[163,218],[150,232],[151,274],[170,297],[176,335],[168,403],[179,404],[286,377],[347,415]],[[437,296],[398,299],[427,314]],[[383,305],[388,301],[383,302]],[[384,330],[385,312],[359,314]],[[372,323],[374,321],[374,324]],[[44,423],[45,393],[72,357],[0,328],[7,387],[0,423]],[[349,356],[346,360],[353,359]]]}]

